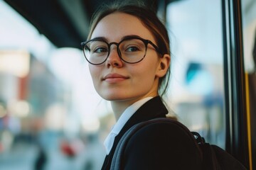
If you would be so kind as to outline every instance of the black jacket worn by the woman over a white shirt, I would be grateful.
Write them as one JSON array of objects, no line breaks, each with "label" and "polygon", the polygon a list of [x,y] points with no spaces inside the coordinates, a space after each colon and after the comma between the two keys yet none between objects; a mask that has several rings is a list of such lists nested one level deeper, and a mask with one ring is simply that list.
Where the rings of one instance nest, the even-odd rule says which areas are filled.
[{"label": "black jacket worn by the woman over a white shirt", "polygon": [[[106,156],[102,169],[110,169],[114,150],[129,128],[153,118],[165,118],[167,113],[168,111],[159,96],[144,103],[115,137],[114,145],[110,154]],[[139,130],[129,140],[125,149],[123,169],[201,169],[200,155],[196,149],[189,146],[189,143],[183,146],[182,142],[176,140],[175,133],[176,130],[170,131],[166,124],[148,125]],[[183,140],[186,141],[186,139]]]}]

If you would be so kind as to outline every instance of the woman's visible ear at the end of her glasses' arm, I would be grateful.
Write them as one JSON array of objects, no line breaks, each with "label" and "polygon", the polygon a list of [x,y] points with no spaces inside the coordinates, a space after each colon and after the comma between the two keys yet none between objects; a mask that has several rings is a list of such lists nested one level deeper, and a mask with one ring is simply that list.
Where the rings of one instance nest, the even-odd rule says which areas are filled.
[{"label": "woman's visible ear at the end of her glasses' arm", "polygon": [[166,74],[169,68],[170,62],[171,62],[170,55],[164,55],[163,57],[160,58],[159,65],[156,70],[156,77],[159,77],[159,78],[164,77],[164,75]]}]

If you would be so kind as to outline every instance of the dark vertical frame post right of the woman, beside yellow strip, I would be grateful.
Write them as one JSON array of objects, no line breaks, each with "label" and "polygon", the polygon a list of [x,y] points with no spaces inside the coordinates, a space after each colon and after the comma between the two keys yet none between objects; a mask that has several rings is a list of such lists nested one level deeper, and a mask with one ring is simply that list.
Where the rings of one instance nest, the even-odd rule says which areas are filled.
[{"label": "dark vertical frame post right of the woman, beside yellow strip", "polygon": [[222,0],[226,150],[247,168],[247,119],[240,0]]}]

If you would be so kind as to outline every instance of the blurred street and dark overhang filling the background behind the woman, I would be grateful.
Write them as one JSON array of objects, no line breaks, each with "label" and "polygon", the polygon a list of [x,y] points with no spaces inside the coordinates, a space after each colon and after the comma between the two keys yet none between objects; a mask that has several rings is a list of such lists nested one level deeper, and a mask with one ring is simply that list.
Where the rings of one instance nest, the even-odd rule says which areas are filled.
[{"label": "blurred street and dark overhang filling the background behind the woman", "polygon": [[[171,39],[169,114],[225,149],[221,1],[154,2]],[[0,170],[101,168],[115,120],[80,48],[101,3],[0,0]],[[254,69],[255,9],[242,0],[246,72]]]}]

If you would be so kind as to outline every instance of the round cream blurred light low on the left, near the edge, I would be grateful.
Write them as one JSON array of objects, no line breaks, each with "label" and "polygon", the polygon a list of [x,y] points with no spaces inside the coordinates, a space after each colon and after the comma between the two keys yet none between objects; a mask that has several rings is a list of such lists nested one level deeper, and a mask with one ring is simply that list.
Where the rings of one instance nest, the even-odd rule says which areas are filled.
[{"label": "round cream blurred light low on the left, near the edge", "polygon": [[31,107],[27,101],[18,101],[14,104],[14,115],[25,118],[31,111]]}]

